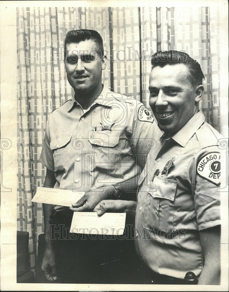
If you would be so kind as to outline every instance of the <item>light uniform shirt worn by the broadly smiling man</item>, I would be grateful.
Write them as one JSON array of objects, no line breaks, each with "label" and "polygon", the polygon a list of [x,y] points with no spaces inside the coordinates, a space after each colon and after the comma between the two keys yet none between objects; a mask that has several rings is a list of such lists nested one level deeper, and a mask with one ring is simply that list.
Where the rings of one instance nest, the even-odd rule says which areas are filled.
[{"label": "light uniform shirt worn by the broadly smiling man", "polygon": [[198,112],[172,138],[163,135],[139,178],[137,253],[152,271],[181,279],[200,276],[199,231],[220,224],[222,137],[204,119]]}]

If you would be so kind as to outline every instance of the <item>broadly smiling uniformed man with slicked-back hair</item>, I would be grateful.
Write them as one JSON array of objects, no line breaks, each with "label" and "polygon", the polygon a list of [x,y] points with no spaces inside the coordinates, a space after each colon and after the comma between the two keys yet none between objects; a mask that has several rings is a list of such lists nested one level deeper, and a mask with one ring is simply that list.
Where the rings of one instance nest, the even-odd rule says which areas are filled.
[{"label": "broadly smiling uniformed man with slicked-back hair", "polygon": [[199,110],[203,78],[186,53],[153,55],[149,104],[164,134],[148,154],[137,203],[105,200],[94,210],[136,212],[146,283],[220,284],[222,136]]}]

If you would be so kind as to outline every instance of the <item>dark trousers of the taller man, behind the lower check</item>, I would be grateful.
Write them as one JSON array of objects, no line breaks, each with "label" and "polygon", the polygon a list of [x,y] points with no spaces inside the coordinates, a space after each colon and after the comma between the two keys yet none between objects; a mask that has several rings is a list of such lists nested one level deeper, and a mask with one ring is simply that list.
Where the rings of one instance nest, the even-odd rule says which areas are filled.
[{"label": "dark trousers of the taller man, behind the lower check", "polygon": [[133,222],[123,236],[72,234],[71,218],[52,214],[50,224],[62,283],[145,284],[134,248]]}]

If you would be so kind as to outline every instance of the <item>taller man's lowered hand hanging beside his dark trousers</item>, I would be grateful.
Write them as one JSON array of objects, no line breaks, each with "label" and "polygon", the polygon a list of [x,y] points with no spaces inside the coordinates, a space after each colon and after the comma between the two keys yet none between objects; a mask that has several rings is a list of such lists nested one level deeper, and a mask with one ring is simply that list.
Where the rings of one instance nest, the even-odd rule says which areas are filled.
[{"label": "taller man's lowered hand hanging beside his dark trousers", "polygon": [[48,281],[57,280],[55,252],[52,248],[45,249],[41,270]]}]

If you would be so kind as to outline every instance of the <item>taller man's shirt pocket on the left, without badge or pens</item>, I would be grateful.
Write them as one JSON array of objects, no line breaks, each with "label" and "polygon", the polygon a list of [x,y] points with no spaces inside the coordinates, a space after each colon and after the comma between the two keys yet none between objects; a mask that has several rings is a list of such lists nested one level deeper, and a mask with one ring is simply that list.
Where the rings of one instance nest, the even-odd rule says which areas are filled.
[{"label": "taller man's shirt pocket on the left, without badge or pens", "polygon": [[50,148],[53,150],[54,170],[66,172],[70,164],[70,140],[72,134],[53,137]]}]

